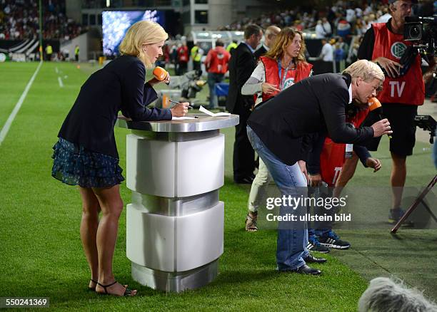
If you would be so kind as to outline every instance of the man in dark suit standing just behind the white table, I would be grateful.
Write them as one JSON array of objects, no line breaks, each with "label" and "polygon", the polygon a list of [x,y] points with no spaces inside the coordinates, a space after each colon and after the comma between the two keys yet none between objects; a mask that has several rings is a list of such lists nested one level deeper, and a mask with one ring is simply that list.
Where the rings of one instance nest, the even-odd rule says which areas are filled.
[{"label": "man in dark suit standing just behind the white table", "polygon": [[248,25],[244,31],[244,42],[232,51],[229,61],[229,93],[226,109],[240,116],[240,123],[235,127],[235,142],[233,143],[233,180],[236,183],[251,184],[255,170],[255,153],[248,141],[246,122],[254,105],[253,95],[241,95],[241,87],[256,68],[256,58],[253,56],[263,36],[263,30],[258,25]]}]

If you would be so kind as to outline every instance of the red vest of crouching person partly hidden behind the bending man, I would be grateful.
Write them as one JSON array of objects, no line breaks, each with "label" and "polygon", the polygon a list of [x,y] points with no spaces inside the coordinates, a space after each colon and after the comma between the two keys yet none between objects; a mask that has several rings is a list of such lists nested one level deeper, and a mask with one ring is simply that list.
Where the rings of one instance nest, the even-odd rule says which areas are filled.
[{"label": "red vest of crouching person partly hidden behind the bending man", "polygon": [[[368,114],[368,108],[366,110],[360,110],[353,116],[349,123],[353,123],[355,128],[358,128]],[[329,187],[336,185],[338,175],[343,168],[344,154],[346,152],[346,144],[336,143],[331,140],[330,137],[326,137],[323,143],[323,149],[320,155],[320,175],[323,182],[326,182]]]}]

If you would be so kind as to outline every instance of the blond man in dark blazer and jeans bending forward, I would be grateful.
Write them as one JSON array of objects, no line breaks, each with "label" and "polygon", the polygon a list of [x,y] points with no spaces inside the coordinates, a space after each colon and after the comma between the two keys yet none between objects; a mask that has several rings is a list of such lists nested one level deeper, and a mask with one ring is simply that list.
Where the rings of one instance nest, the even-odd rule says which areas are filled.
[{"label": "blond man in dark blazer and jeans bending forward", "polygon": [[[386,119],[358,129],[346,124],[348,105],[366,107],[368,99],[376,96],[383,80],[383,72],[376,63],[357,61],[343,74],[326,73],[299,81],[274,98],[258,104],[248,119],[247,132],[253,148],[266,164],[282,198],[290,199],[281,200],[281,215],[276,217],[289,214],[296,217],[296,221],[277,219],[278,271],[321,274],[306,264],[326,261],[309,254],[306,222],[300,221],[300,217],[306,214],[303,201],[307,194],[307,180],[298,160],[307,159],[308,135],[328,132],[334,142],[360,144],[372,137],[391,133]],[[353,104],[352,100],[355,100]],[[316,157],[320,157],[320,153]],[[294,206],[289,202],[294,202]]]}]

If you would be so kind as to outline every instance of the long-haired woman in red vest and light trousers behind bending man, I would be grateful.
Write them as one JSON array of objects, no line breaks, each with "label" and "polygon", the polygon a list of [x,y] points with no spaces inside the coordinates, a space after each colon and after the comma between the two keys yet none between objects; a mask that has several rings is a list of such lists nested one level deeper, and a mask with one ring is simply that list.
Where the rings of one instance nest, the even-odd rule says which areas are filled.
[{"label": "long-haired woman in red vest and light trousers behind bending man", "polygon": [[[241,88],[242,95],[256,95],[258,100],[268,100],[288,88],[294,83],[311,76],[311,64],[305,60],[305,43],[301,31],[286,27],[278,33],[275,43],[267,51],[265,56],[261,56],[258,66],[252,75]],[[259,96],[261,93],[261,96]],[[299,160],[299,166],[306,175],[306,165],[303,160]],[[251,193],[248,199],[248,215],[246,217],[246,231],[255,232],[258,206],[266,187],[271,181],[266,165],[259,160],[258,173],[252,182]]]}]

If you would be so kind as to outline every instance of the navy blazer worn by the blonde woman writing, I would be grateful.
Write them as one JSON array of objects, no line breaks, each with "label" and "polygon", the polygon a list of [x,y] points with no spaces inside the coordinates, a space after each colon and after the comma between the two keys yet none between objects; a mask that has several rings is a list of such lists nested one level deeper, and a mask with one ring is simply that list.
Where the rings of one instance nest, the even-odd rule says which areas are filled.
[{"label": "navy blazer worn by the blonde woman writing", "polygon": [[146,108],[158,96],[144,84],[139,58],[120,56],[93,73],[82,85],[58,137],[88,150],[119,158],[114,125],[119,111],[132,120],[171,120],[169,109]]}]

